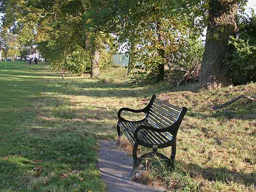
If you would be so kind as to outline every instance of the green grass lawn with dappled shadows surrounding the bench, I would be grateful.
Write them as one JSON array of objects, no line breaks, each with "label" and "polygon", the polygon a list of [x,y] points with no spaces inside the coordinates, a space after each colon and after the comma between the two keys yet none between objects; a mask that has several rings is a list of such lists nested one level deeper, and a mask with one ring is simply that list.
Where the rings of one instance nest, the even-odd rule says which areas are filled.
[{"label": "green grass lawn with dappled shadows surrounding the bench", "polygon": [[[119,67],[99,79],[63,80],[45,63],[7,62],[5,69],[0,62],[1,191],[106,191],[96,139],[114,139],[118,109],[142,108],[152,94],[189,109],[177,136],[175,170],[152,169],[152,177],[174,191],[256,190],[255,102],[239,100],[218,113],[210,108],[240,94],[256,96],[256,84],[170,91],[168,82],[139,86],[125,74]],[[170,155],[169,148],[162,152]]]}]

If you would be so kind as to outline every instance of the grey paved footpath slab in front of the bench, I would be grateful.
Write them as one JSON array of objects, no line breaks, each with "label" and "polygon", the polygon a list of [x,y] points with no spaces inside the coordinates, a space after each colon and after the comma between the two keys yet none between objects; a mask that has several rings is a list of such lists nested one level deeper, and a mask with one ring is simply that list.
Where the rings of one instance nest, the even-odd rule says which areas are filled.
[{"label": "grey paved footpath slab in front of the bench", "polygon": [[102,180],[108,186],[108,192],[166,192],[164,188],[130,182],[132,172],[132,157],[126,152],[116,149],[114,141],[98,140],[100,150],[98,160]]}]

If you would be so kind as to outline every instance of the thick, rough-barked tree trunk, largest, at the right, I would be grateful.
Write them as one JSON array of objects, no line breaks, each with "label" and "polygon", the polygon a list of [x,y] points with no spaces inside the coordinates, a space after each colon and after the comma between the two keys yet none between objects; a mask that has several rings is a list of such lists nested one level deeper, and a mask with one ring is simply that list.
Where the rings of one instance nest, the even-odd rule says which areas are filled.
[{"label": "thick, rough-barked tree trunk, largest, at the right", "polygon": [[210,0],[209,23],[200,71],[200,86],[209,90],[231,85],[230,72],[222,63],[230,52],[228,38],[237,29],[237,0]]}]

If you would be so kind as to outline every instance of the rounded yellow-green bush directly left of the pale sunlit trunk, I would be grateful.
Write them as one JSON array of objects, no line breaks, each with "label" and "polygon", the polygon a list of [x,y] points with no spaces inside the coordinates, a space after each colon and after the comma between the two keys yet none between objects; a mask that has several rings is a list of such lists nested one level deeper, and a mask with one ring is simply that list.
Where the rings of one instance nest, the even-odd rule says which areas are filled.
[{"label": "rounded yellow-green bush directly left of the pale sunlit trunk", "polygon": [[82,75],[89,73],[91,70],[90,51],[78,46],[73,52],[68,54],[64,66],[72,74]]}]

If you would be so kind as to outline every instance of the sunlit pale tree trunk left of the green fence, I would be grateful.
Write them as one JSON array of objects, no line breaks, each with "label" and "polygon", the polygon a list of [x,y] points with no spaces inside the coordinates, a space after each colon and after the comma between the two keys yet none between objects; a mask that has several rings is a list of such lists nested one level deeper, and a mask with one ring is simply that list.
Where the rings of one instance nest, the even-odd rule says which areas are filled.
[{"label": "sunlit pale tree trunk left of the green fence", "polygon": [[100,75],[100,52],[92,44],[92,65],[91,77],[98,77]]}]

